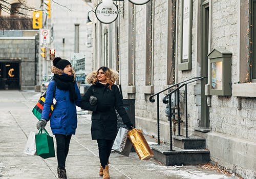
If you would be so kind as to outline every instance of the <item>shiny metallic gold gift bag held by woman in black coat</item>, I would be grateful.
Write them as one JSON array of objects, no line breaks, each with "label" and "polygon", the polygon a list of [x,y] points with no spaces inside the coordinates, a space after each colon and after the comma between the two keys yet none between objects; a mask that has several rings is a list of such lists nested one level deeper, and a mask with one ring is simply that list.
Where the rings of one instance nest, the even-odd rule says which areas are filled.
[{"label": "shiny metallic gold gift bag held by woman in black coat", "polygon": [[148,160],[154,156],[153,151],[147,144],[146,139],[140,129],[132,129],[128,132],[128,137],[139,155],[140,160]]}]

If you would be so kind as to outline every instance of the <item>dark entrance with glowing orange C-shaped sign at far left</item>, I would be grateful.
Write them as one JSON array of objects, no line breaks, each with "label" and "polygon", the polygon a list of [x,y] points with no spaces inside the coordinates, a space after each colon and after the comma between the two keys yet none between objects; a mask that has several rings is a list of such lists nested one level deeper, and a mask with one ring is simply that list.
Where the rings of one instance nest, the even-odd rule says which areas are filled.
[{"label": "dark entrance with glowing orange C-shaped sign at far left", "polygon": [[19,61],[0,60],[0,89],[20,89]]}]

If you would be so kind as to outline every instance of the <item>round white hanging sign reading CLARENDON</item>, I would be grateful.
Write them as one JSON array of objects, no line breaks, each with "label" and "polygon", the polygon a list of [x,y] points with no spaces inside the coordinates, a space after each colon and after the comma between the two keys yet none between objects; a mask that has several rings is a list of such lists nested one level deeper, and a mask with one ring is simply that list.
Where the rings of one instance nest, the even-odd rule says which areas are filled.
[{"label": "round white hanging sign reading CLARENDON", "polygon": [[97,19],[104,24],[110,24],[113,23],[113,21],[116,20],[118,16],[118,8],[113,3],[112,7],[106,8],[103,6],[102,3],[98,4],[98,6],[95,9],[95,14]]}]

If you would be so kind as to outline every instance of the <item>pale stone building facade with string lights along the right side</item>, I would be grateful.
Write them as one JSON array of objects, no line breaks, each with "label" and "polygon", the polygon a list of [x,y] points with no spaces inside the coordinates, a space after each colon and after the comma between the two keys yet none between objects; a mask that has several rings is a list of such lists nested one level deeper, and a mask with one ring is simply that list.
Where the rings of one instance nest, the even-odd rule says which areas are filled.
[{"label": "pale stone building facade with string lights along the right side", "polygon": [[[92,2],[94,7],[100,3]],[[254,2],[114,3],[119,16],[113,23],[102,24],[92,15],[93,69],[108,65],[119,72],[117,84],[122,86],[123,98],[135,99],[136,127],[157,136],[157,107],[150,96],[174,83],[207,77],[187,85],[188,135],[206,139],[212,161],[244,178],[255,178]],[[222,66],[224,71],[216,71],[215,62],[210,63],[216,54],[218,59],[230,56],[231,63]],[[222,87],[229,88],[225,92],[231,95],[214,94],[213,80],[224,81],[226,76],[230,80]],[[184,92],[181,88],[183,121]],[[169,142],[166,104],[161,102],[164,95],[159,95],[160,139]],[[182,135],[184,127],[183,122]]]}]

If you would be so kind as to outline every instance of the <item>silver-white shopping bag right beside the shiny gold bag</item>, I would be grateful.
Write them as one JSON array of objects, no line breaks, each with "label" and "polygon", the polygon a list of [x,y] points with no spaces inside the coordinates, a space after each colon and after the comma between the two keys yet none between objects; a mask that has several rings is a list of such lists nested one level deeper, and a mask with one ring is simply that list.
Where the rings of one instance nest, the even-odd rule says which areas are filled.
[{"label": "silver-white shopping bag right beside the shiny gold bag", "polygon": [[125,156],[129,156],[132,149],[132,143],[128,139],[128,132],[129,130],[120,127],[117,132],[114,144],[112,146],[112,150]]}]

